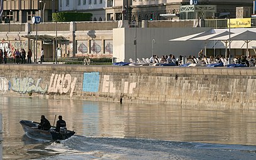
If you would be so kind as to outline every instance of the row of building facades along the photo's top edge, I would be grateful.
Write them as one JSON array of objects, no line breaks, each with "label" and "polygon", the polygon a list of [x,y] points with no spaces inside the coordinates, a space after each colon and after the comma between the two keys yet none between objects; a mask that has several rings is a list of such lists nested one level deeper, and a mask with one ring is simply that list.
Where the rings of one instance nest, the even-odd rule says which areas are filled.
[{"label": "row of building facades along the photo's top edge", "polygon": [[[2,23],[27,23],[33,16],[51,22],[52,13],[77,11],[92,13],[92,21],[165,20],[163,14],[179,14],[174,19],[218,18],[230,13],[235,18],[236,8],[253,8],[252,0],[4,0]],[[250,14],[252,14],[251,9]]]}]

